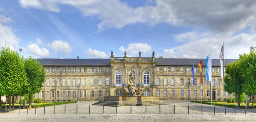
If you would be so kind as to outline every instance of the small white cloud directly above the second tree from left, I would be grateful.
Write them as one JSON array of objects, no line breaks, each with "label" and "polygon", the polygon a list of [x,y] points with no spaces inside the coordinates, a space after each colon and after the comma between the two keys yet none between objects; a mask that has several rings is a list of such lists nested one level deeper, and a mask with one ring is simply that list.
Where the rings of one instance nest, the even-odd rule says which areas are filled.
[{"label": "small white cloud directly above the second tree from left", "polygon": [[42,47],[40,48],[37,43],[35,44],[29,44],[26,47],[28,53],[35,55],[35,56],[41,56],[41,57],[49,57],[49,50]]}]

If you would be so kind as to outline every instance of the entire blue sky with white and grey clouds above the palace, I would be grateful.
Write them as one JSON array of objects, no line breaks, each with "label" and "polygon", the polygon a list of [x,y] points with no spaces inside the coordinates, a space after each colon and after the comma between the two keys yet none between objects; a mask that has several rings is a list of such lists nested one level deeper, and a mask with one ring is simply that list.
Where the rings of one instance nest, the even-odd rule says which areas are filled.
[{"label": "entire blue sky with white and grey clouds above the palace", "polygon": [[[256,46],[256,1],[1,0],[0,46],[34,58],[239,58]],[[59,52],[59,53],[58,53]],[[59,55],[58,55],[59,54]],[[178,57],[177,57],[178,56]]]}]

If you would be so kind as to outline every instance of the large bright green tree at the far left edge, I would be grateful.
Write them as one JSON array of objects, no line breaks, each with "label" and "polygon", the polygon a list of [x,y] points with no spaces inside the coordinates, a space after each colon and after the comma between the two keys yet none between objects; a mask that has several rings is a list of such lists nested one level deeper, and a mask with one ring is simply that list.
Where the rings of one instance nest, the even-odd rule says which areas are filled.
[{"label": "large bright green tree at the far left edge", "polygon": [[17,51],[11,50],[10,47],[2,47],[0,50],[0,67],[0,93],[10,97],[10,109],[11,97],[20,94],[22,88],[27,85],[23,59],[20,58]]}]

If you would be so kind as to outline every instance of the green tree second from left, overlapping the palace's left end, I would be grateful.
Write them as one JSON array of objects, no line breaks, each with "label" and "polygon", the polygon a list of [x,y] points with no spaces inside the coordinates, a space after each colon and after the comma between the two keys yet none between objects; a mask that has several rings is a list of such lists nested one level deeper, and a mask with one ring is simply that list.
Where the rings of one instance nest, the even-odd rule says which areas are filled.
[{"label": "green tree second from left, overlapping the palace's left end", "polygon": [[45,80],[44,67],[36,59],[31,56],[25,60],[25,71],[28,77],[28,85],[26,87],[29,93],[29,109],[32,108],[32,94],[41,91],[42,84]]}]

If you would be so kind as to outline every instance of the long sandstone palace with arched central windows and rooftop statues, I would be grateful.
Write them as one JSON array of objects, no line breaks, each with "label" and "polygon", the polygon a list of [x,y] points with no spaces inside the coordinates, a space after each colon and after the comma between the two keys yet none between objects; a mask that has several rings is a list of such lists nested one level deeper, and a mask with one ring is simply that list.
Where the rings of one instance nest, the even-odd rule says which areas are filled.
[{"label": "long sandstone palace with arched central windows and rooftop statues", "polygon": [[[220,77],[219,59],[212,59],[212,83],[205,78],[205,59],[203,83],[200,83],[201,59],[155,58],[153,57],[113,57],[109,59],[37,59],[46,72],[46,80],[41,92],[34,98],[42,101],[103,100],[104,96],[118,96],[124,86],[127,91],[128,77],[134,73],[136,86],[144,88],[144,96],[159,96],[160,100],[227,100],[234,93],[223,90]],[[225,59],[225,66],[236,59]],[[195,63],[195,83],[192,83],[192,66]],[[79,86],[79,87],[78,87]],[[195,89],[195,90],[194,90]]]}]

